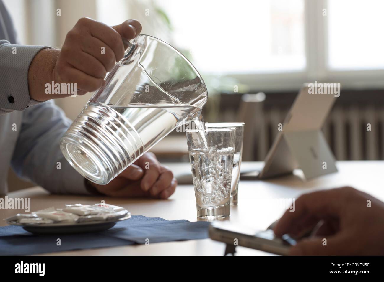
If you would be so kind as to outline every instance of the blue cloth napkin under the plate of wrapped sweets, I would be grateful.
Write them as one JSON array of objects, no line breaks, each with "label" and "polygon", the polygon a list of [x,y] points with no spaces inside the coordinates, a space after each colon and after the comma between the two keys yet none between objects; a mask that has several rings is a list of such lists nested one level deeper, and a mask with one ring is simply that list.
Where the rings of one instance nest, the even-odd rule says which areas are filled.
[{"label": "blue cloth napkin under the plate of wrapped sweets", "polygon": [[[21,226],[0,227],[0,255],[29,255],[208,238],[209,222],[165,220],[133,215],[113,228],[96,233],[33,235]],[[61,245],[57,246],[60,238]]]}]

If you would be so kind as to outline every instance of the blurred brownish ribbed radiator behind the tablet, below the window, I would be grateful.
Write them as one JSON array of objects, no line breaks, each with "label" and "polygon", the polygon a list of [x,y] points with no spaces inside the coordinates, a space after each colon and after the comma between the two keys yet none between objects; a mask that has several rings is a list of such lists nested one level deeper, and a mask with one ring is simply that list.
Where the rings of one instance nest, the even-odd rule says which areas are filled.
[{"label": "blurred brownish ribbed radiator behind the tablet, below the window", "polygon": [[[283,123],[287,112],[288,108],[263,110],[254,159],[260,161],[265,158],[278,133],[278,124]],[[367,124],[370,124],[370,130],[367,130]],[[247,124],[245,127],[247,128]],[[334,107],[322,130],[337,160],[384,159],[383,107]]]}]

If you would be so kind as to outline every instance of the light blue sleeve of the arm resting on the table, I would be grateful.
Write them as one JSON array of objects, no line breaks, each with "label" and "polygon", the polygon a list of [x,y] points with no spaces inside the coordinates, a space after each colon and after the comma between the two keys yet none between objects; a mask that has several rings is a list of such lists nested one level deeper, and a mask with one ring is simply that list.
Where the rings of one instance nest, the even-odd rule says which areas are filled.
[{"label": "light blue sleeve of the arm resting on the table", "polygon": [[14,171],[52,193],[89,194],[84,177],[60,151],[60,138],[70,124],[71,120],[53,101],[27,108],[13,152]]}]

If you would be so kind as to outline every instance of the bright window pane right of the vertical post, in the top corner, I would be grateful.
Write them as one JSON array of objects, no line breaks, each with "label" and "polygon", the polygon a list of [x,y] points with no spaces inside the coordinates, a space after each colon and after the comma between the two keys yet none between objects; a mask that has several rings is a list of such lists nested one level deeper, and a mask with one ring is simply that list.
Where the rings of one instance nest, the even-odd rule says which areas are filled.
[{"label": "bright window pane right of the vertical post, in the top corner", "polygon": [[328,1],[331,69],[384,68],[384,1]]}]

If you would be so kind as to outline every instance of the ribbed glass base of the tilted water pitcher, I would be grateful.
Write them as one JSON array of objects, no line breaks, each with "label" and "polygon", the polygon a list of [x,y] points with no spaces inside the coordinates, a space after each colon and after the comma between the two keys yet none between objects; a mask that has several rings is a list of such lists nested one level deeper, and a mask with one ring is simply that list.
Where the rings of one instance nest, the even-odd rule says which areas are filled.
[{"label": "ribbed glass base of the tilted water pitcher", "polygon": [[60,140],[63,155],[81,175],[107,184],[144,153],[135,128],[112,108],[88,103]]}]

